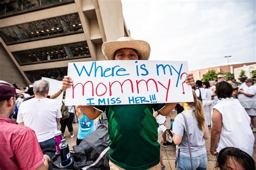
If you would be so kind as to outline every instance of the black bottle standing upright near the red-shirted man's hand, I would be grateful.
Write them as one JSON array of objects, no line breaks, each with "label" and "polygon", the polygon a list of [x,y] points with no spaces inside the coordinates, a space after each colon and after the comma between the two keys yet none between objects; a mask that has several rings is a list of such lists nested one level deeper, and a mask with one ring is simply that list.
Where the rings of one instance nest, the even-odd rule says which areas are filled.
[{"label": "black bottle standing upright near the red-shirted man's hand", "polygon": [[60,149],[60,166],[67,167],[71,164],[69,145],[65,139],[59,144]]}]

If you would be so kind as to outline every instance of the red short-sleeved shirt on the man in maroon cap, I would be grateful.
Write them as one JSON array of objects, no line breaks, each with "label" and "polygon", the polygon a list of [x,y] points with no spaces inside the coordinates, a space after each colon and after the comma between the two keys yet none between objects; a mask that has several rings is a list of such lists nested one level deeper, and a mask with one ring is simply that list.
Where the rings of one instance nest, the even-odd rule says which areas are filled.
[{"label": "red short-sleeved shirt on the man in maroon cap", "polygon": [[0,116],[0,169],[36,169],[44,163],[36,133]]}]

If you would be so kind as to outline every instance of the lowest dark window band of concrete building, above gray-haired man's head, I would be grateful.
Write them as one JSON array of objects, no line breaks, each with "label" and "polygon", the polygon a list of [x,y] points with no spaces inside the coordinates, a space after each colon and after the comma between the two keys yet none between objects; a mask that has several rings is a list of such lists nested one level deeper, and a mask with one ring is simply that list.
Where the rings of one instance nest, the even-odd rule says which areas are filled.
[{"label": "lowest dark window band of concrete building, above gray-haired man's head", "polygon": [[25,74],[26,76],[28,76],[28,79],[31,83],[37,80],[41,80],[42,77],[48,77],[55,80],[62,80],[64,75],[68,74],[68,67],[32,70],[26,71]]}]

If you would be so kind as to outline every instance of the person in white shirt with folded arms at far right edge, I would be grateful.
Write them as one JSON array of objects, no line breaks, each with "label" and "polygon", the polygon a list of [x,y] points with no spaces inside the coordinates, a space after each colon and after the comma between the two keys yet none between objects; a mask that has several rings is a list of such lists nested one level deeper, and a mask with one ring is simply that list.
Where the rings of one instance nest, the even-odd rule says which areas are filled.
[{"label": "person in white shirt with folded arms at far right edge", "polygon": [[256,86],[253,79],[245,80],[246,90],[238,90],[238,99],[245,108],[247,114],[251,117],[252,131],[256,132]]}]

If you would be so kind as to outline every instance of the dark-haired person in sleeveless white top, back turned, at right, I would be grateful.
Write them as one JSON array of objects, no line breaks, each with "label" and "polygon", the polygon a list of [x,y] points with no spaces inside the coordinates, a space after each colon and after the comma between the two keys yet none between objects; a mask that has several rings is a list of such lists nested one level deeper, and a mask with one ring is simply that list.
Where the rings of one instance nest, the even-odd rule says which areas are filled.
[{"label": "dark-haired person in sleeveless white top, back turned, at right", "polygon": [[216,84],[216,94],[220,101],[213,107],[210,147],[212,155],[217,155],[225,147],[237,147],[249,155],[253,153],[251,119],[240,102],[232,97],[232,93],[230,83],[224,81]]}]

